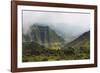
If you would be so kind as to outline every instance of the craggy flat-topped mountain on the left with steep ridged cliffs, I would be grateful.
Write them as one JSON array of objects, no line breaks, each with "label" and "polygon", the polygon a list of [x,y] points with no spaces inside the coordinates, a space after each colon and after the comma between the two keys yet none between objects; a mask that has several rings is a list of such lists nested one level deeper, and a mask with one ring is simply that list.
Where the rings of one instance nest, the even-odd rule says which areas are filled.
[{"label": "craggy flat-topped mountain on the left with steep ridged cliffs", "polygon": [[30,32],[23,34],[23,43],[24,42],[35,42],[46,48],[60,49],[65,41],[49,26],[33,24],[30,27]]}]

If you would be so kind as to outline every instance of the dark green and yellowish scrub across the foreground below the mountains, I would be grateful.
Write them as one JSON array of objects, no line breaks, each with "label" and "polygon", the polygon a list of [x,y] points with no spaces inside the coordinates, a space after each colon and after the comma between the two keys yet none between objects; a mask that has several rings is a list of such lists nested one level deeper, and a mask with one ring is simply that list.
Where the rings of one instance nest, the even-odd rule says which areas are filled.
[{"label": "dark green and yellowish scrub across the foreground below the mountains", "polygon": [[[89,50],[84,47],[66,49],[49,49],[44,48],[36,43],[26,43],[23,47],[23,62],[31,61],[56,61],[56,60],[78,60],[88,59]],[[33,45],[34,44],[34,45]],[[29,49],[28,49],[29,48]]]}]

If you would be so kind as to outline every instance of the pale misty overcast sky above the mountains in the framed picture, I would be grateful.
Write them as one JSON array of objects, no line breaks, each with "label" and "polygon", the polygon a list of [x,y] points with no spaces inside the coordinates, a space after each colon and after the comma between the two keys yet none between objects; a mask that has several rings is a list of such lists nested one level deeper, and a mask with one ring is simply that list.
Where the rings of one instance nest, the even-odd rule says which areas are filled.
[{"label": "pale misty overcast sky above the mountains in the framed picture", "polygon": [[27,33],[30,25],[43,23],[50,26],[68,42],[90,30],[90,14],[23,11],[23,30]]}]

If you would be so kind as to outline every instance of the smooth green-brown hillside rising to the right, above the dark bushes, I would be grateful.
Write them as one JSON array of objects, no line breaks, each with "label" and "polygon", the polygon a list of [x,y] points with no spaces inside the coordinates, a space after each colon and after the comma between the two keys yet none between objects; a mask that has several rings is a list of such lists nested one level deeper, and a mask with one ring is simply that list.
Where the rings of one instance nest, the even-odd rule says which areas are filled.
[{"label": "smooth green-brown hillside rising to the right, above the dark bushes", "polygon": [[75,40],[71,41],[64,47],[73,47],[73,48],[90,48],[90,31],[87,31],[80,35]]}]

